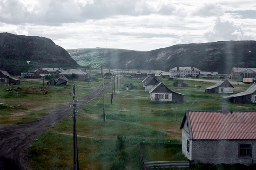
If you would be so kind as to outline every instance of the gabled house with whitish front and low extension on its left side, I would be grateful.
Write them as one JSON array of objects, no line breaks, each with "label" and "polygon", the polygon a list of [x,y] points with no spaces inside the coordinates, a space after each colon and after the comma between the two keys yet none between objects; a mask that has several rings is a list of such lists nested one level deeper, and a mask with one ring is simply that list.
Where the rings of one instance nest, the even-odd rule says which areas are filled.
[{"label": "gabled house with whitish front and low extension on its left side", "polygon": [[207,87],[205,93],[226,93],[233,94],[234,86],[229,83],[227,79],[222,79],[215,85]]}]

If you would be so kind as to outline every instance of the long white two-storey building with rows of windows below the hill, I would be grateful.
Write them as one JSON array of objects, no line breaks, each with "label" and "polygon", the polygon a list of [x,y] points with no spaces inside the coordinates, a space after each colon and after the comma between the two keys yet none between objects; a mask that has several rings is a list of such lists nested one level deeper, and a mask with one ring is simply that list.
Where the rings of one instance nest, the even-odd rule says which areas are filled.
[{"label": "long white two-storey building with rows of windows below the hill", "polygon": [[195,78],[200,73],[200,70],[195,67],[174,67],[169,72],[170,78],[185,78],[189,75]]}]

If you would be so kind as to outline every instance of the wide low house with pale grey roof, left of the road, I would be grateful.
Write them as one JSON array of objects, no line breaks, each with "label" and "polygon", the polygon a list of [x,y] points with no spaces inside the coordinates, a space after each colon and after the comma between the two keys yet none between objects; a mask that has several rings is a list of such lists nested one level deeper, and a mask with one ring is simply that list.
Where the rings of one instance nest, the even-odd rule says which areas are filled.
[{"label": "wide low house with pale grey roof, left of the road", "polygon": [[72,76],[73,80],[85,81],[87,79],[93,78],[93,75],[91,75],[90,72],[86,72],[81,69],[67,69],[59,74],[70,75]]}]

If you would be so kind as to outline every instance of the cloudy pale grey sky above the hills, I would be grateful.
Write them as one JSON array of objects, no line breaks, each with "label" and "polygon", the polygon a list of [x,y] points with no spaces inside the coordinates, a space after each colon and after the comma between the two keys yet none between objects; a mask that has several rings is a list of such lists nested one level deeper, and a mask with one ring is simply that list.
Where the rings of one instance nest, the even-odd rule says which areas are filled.
[{"label": "cloudy pale grey sky above the hills", "polygon": [[256,40],[255,0],[0,0],[0,33],[64,49]]}]

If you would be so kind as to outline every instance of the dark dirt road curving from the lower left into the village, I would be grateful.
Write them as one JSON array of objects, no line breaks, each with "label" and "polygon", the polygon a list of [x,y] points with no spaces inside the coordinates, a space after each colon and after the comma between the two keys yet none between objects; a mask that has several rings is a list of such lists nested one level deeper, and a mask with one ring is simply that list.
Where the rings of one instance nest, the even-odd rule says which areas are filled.
[{"label": "dark dirt road curving from the lower left into the village", "polygon": [[[105,86],[105,89],[112,84]],[[101,94],[99,88],[82,98],[83,103],[77,104],[77,109],[95,96]],[[73,113],[73,107],[62,105],[54,108],[49,114],[27,124],[0,125],[0,170],[30,170],[27,166],[29,157],[27,151],[34,137],[55,123]]]}]

